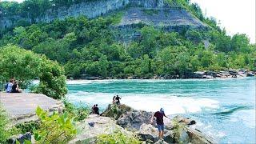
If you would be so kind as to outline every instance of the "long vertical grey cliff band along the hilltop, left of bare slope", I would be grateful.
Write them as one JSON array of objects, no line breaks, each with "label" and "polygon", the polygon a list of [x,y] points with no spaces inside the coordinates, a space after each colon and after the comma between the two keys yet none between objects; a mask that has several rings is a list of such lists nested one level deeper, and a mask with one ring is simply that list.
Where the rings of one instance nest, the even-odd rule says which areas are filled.
[{"label": "long vertical grey cliff band along the hilltop, left of bare slope", "polygon": [[26,18],[19,15],[12,17],[2,16],[2,18],[0,17],[0,28],[13,26],[20,21],[30,22],[30,24],[33,20],[35,22],[51,22],[57,18],[78,17],[81,14],[87,18],[95,18],[114,10],[123,9],[126,6],[162,8],[164,6],[164,0],[98,0],[95,2],[82,2],[68,7],[62,6],[56,9],[46,10],[45,14],[42,14],[38,18],[30,18],[29,15]]}]

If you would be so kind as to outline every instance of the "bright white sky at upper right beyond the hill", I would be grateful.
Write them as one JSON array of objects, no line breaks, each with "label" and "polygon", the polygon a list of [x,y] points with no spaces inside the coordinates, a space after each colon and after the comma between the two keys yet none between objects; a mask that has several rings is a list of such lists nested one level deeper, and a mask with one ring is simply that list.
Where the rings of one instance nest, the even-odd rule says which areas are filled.
[{"label": "bright white sky at upper right beyond the hill", "polygon": [[216,18],[219,26],[225,28],[227,34],[246,34],[250,38],[250,43],[255,43],[255,0],[190,1],[197,2],[207,17]]}]

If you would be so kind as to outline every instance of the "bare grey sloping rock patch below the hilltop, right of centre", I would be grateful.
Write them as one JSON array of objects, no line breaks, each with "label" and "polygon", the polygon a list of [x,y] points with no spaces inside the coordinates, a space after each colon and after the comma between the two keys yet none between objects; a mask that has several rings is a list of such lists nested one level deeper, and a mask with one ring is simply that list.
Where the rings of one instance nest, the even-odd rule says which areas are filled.
[{"label": "bare grey sloping rock patch below the hilltop, right of centre", "polygon": [[171,8],[146,9],[132,7],[126,10],[122,21],[118,26],[129,26],[138,23],[153,26],[193,26],[204,27],[204,23],[194,18],[186,10],[175,10]]}]

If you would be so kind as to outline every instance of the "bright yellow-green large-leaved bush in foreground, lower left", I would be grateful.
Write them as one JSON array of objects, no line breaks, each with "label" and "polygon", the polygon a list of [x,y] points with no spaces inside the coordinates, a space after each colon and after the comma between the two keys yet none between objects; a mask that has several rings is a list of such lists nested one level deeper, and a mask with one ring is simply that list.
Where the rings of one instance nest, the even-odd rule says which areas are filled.
[{"label": "bright yellow-green large-leaved bush in foreground, lower left", "polygon": [[65,112],[64,114],[48,113],[38,107],[36,110],[41,125],[34,131],[34,138],[38,143],[66,143],[74,138],[77,130],[73,124],[73,118]]}]

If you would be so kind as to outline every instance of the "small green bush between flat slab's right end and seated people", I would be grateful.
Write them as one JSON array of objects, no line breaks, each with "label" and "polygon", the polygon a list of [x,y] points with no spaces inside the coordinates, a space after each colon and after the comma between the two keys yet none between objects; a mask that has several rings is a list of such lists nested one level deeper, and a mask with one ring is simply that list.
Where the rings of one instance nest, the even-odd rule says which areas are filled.
[{"label": "small green bush between flat slab's right end and seated people", "polygon": [[74,104],[68,102],[66,99],[63,100],[65,111],[74,117],[74,121],[82,121],[88,117],[90,109],[86,106],[74,106]]}]

